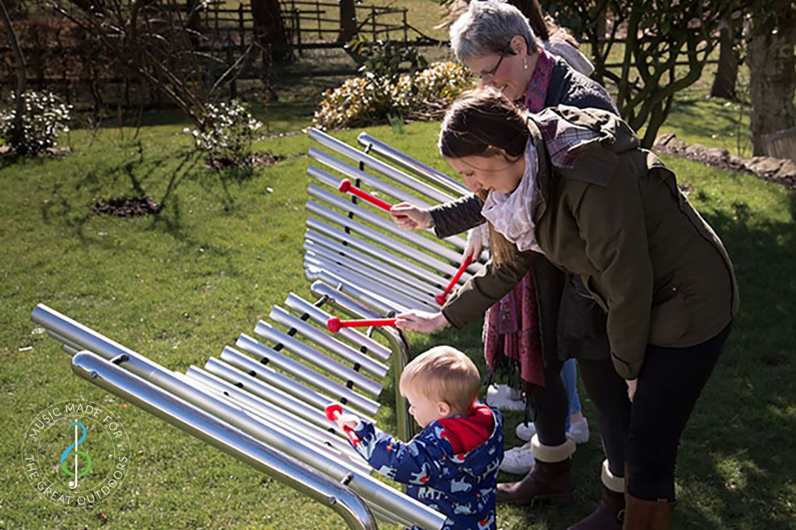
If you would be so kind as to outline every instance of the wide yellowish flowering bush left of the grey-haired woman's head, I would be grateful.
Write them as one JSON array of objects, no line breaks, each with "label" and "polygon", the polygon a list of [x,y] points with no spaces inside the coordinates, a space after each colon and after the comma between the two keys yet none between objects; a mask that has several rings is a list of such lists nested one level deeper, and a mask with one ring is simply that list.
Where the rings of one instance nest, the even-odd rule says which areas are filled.
[{"label": "wide yellowish flowering bush left of the grey-haired woman's head", "polygon": [[471,87],[470,73],[451,62],[433,64],[416,75],[401,75],[397,83],[354,77],[323,93],[313,126],[326,130],[373,125],[396,114],[416,120],[438,119]]}]

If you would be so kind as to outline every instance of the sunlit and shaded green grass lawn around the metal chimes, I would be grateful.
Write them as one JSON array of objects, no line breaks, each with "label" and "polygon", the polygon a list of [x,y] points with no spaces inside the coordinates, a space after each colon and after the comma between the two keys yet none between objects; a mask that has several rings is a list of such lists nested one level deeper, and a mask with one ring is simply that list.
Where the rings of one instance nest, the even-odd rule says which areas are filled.
[{"label": "sunlit and shaded green grass lawn around the metal chimes", "polygon": [[[0,528],[341,528],[330,510],[73,376],[68,356],[29,319],[44,302],[184,371],[251,333],[288,292],[312,300],[301,263],[306,136],[263,141],[259,149],[285,159],[241,178],[187,157],[184,124],[164,122],[143,128],[135,141],[129,130],[124,141],[103,130],[91,149],[78,131],[68,157],[0,168]],[[444,169],[434,149],[437,127],[371,132]],[[357,133],[338,136],[353,142]],[[665,160],[693,187],[690,198],[727,244],[743,299],[683,437],[677,527],[793,528],[796,195],[745,174]],[[89,210],[98,199],[141,193],[166,209],[146,219]],[[478,323],[412,337],[415,351],[439,343],[482,358]],[[67,511],[42,500],[21,466],[30,420],[68,399],[105,404],[133,447],[122,489],[94,509]],[[501,528],[566,528],[591,512],[603,456],[595,410],[583,392],[581,399],[592,440],[575,456],[576,504],[501,506]],[[519,443],[512,435],[519,420],[509,416],[508,445]]]}]

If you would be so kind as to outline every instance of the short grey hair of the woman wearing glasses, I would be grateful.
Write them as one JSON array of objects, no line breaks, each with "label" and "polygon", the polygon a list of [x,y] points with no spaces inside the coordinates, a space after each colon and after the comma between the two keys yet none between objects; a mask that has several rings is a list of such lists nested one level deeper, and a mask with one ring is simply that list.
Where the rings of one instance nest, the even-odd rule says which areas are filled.
[{"label": "short grey hair of the woman wearing glasses", "polygon": [[474,57],[502,53],[511,39],[525,39],[528,52],[540,42],[521,10],[499,0],[470,0],[470,7],[451,25],[451,48],[460,63]]}]

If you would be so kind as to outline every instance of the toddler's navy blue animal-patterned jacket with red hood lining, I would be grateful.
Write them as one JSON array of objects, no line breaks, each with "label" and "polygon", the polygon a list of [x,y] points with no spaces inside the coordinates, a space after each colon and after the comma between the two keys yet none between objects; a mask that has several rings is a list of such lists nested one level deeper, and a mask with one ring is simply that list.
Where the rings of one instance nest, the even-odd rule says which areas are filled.
[{"label": "toddler's navy blue animal-patterned jacket with red hood lining", "polygon": [[[408,443],[361,421],[356,447],[374,470],[407,486],[407,494],[447,516],[443,528],[495,530],[497,468],[503,458],[503,417],[490,408],[494,429],[473,450],[456,455],[439,421]],[[450,422],[451,420],[443,420]],[[450,424],[448,424],[450,425]],[[412,527],[412,530],[419,530]]]}]

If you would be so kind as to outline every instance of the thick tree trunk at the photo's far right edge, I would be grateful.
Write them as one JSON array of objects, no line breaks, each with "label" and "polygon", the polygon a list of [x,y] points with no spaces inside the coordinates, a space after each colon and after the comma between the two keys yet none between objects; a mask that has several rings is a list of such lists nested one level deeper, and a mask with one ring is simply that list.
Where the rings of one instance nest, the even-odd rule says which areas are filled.
[{"label": "thick tree trunk at the photo's far right edge", "polygon": [[796,125],[796,11],[783,9],[775,13],[752,19],[748,61],[750,126],[755,156],[765,154],[764,135]]}]

